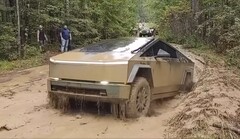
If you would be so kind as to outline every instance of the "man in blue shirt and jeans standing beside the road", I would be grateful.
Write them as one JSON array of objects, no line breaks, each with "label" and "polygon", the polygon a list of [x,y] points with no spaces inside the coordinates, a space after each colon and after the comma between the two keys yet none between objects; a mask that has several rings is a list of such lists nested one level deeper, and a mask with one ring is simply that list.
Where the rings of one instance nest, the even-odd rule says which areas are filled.
[{"label": "man in blue shirt and jeans standing beside the road", "polygon": [[63,29],[61,30],[60,37],[62,41],[61,52],[67,52],[69,41],[72,40],[72,35],[66,25],[64,25]]}]

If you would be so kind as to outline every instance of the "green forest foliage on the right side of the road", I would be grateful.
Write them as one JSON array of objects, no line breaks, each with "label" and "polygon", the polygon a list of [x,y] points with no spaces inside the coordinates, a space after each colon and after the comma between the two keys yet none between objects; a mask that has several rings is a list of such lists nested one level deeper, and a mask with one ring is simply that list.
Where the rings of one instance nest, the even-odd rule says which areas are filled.
[{"label": "green forest foliage on the right side of the road", "polygon": [[[204,44],[240,66],[239,0],[149,0],[151,19],[167,41],[202,47]],[[195,2],[195,3],[194,3]],[[197,8],[192,6],[197,4]],[[195,5],[196,6],[196,5]]]}]

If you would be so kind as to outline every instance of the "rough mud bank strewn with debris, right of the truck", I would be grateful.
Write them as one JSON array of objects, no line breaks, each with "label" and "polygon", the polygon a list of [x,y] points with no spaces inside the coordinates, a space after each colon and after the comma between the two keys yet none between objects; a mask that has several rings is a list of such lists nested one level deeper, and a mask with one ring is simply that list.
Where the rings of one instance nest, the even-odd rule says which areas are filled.
[{"label": "rough mud bank strewn with debris, right of the truck", "polygon": [[[234,84],[234,85],[233,85]],[[240,138],[239,78],[229,70],[206,67],[201,78],[176,108],[167,133],[174,138]]]}]

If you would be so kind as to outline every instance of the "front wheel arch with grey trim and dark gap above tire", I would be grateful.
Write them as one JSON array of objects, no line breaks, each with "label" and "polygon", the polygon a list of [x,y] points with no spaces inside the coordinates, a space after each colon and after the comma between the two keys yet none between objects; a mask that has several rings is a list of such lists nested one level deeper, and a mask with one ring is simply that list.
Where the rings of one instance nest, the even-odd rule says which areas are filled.
[{"label": "front wheel arch with grey trim and dark gap above tire", "polygon": [[151,88],[154,87],[153,85],[153,77],[152,77],[152,69],[149,65],[141,65],[136,64],[133,66],[132,71],[128,77],[128,84],[131,84],[134,82],[134,79],[136,77],[144,77],[147,79],[149,85]]}]

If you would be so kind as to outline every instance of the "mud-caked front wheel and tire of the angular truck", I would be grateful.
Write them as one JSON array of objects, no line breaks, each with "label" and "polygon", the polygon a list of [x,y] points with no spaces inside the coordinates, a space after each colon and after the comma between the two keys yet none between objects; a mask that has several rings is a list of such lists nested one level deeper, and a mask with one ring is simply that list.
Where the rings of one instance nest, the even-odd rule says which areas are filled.
[{"label": "mud-caked front wheel and tire of the angular truck", "polygon": [[148,81],[137,77],[132,85],[129,102],[126,104],[126,117],[138,118],[146,116],[151,102],[151,89]]}]

